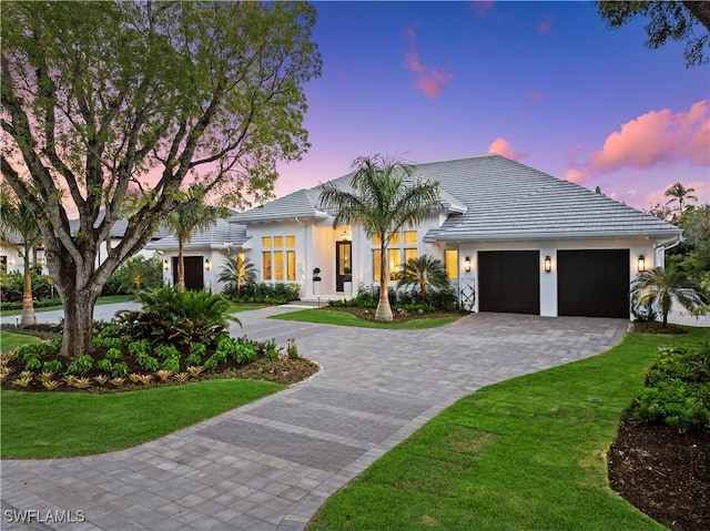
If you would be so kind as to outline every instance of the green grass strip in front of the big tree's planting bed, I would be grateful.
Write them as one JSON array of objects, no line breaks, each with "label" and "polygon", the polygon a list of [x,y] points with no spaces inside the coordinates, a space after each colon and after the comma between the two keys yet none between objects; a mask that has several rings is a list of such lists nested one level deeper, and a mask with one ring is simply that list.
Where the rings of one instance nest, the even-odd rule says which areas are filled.
[{"label": "green grass strip in front of the big tree's planting bed", "polygon": [[129,448],[280,389],[267,381],[206,380],[105,395],[0,391],[0,456],[53,458]]}]

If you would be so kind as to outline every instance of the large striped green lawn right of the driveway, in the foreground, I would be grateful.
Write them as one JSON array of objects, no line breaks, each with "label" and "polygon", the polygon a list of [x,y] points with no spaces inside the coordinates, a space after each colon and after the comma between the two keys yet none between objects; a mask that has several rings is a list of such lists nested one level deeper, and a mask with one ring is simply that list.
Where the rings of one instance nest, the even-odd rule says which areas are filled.
[{"label": "large striped green lawn right of the driveway, in the foreground", "polygon": [[658,346],[710,338],[690,330],[629,335],[463,398],[334,496],[310,529],[665,529],[610,490],[606,451]]}]

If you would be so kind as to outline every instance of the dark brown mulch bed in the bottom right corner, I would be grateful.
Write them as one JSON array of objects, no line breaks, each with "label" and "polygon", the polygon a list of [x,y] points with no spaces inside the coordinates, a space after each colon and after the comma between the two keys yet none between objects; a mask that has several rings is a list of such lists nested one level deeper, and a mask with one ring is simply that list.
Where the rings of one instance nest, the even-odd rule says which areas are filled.
[{"label": "dark brown mulch bed in the bottom right corner", "polygon": [[673,531],[710,529],[710,432],[633,426],[627,411],[608,455],[611,488]]}]

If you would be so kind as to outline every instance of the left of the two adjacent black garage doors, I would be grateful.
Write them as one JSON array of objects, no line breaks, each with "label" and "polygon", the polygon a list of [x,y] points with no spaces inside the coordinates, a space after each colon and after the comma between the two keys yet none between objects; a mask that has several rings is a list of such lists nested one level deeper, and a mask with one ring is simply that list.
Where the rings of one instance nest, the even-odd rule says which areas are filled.
[{"label": "left of the two adjacent black garage doors", "polygon": [[540,253],[485,251],[478,253],[480,312],[540,314]]}]

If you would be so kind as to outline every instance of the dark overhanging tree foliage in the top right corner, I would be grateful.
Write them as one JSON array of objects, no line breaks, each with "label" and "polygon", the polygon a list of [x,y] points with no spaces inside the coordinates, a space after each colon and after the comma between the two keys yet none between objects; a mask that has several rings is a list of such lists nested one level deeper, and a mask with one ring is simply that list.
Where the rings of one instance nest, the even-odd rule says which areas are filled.
[{"label": "dark overhanging tree foliage in the top right corner", "polygon": [[710,61],[710,2],[597,0],[597,8],[611,28],[620,28],[636,17],[648,18],[646,45],[650,49],[669,40],[684,41],[688,68]]}]

